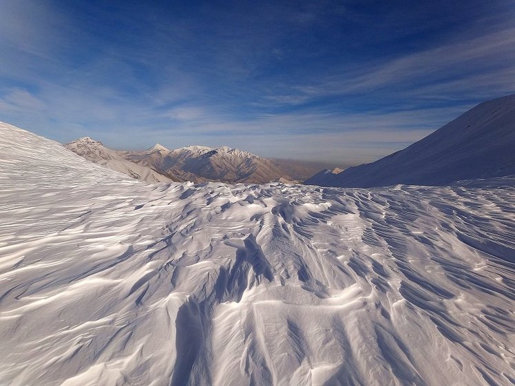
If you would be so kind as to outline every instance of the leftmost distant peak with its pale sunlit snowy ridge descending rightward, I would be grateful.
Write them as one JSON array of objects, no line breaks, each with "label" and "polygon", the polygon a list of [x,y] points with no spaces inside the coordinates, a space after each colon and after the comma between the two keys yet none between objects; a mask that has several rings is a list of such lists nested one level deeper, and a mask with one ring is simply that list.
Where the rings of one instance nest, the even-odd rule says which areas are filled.
[{"label": "leftmost distant peak with its pale sunlit snowy ridge descending rightward", "polygon": [[102,142],[93,140],[90,137],[79,138],[65,144],[65,147],[74,153],[90,160],[96,164],[103,165],[109,169],[130,175],[136,180],[147,182],[171,182],[171,178],[163,175],[148,165],[136,164],[126,159],[124,151],[116,151],[105,147]]}]

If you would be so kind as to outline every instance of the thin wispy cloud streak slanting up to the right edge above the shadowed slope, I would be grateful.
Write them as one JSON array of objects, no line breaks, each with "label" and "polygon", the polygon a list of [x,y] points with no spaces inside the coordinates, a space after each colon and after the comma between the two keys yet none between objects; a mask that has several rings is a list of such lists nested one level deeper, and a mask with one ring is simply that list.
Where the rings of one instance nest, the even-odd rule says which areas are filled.
[{"label": "thin wispy cloud streak slanting up to the right edge above the shadowed slope", "polygon": [[491,93],[515,89],[515,28],[491,32],[474,39],[454,41],[430,50],[392,58],[382,63],[364,63],[339,70],[302,85],[292,85],[288,95],[271,95],[277,103],[304,104],[315,98],[375,92],[421,94],[440,90],[441,96],[463,95],[470,89]]}]

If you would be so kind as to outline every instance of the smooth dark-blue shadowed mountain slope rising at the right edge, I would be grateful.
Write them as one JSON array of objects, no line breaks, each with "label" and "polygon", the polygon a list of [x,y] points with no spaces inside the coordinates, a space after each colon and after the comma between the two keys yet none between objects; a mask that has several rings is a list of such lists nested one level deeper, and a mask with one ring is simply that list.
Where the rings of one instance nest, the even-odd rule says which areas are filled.
[{"label": "smooth dark-blue shadowed mountain slope rising at the right edge", "polygon": [[515,95],[481,103],[415,142],[371,164],[305,183],[321,186],[443,185],[515,174]]}]

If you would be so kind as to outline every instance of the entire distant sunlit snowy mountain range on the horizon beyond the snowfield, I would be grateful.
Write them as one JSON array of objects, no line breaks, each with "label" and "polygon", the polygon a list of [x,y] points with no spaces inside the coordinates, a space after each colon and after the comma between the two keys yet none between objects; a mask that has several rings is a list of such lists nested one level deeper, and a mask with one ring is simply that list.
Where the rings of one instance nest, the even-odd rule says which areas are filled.
[{"label": "entire distant sunlit snowy mountain range on the horizon beyond the snowfield", "polygon": [[189,146],[169,150],[161,144],[145,151],[116,151],[92,138],[65,144],[87,160],[147,182],[205,182],[263,184],[273,180],[305,180],[314,167],[279,162],[230,147]]}]

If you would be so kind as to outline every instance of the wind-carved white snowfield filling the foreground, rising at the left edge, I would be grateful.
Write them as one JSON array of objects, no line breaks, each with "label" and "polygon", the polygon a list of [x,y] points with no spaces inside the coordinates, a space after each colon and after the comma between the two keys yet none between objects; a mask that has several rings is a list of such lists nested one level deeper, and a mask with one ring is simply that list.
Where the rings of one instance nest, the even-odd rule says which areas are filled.
[{"label": "wind-carved white snowfield filling the foreground, rising at the left edge", "polygon": [[0,385],[513,385],[515,178],[146,184],[0,125]]}]

